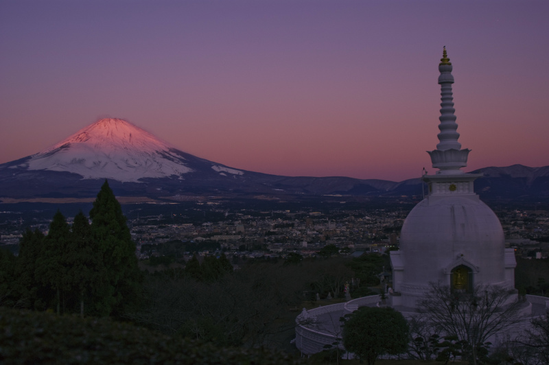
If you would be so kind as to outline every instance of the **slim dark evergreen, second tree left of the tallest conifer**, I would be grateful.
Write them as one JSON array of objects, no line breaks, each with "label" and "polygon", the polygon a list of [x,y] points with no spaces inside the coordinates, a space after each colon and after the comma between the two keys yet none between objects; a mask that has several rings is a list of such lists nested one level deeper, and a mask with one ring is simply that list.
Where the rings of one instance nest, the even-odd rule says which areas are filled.
[{"label": "slim dark evergreen, second tree left of the tallest conifer", "polygon": [[66,262],[69,244],[69,224],[60,211],[49,224],[49,232],[44,240],[43,250],[36,259],[36,278],[56,295],[57,314],[60,314],[61,292],[67,287],[68,268]]}]

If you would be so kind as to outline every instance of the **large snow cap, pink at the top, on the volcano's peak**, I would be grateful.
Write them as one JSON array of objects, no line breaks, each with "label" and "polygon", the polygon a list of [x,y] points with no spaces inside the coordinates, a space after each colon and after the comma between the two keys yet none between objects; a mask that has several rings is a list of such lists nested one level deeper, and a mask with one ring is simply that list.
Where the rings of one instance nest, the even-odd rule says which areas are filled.
[{"label": "large snow cap, pink at the top, on the volcano's peak", "polygon": [[102,119],[47,148],[19,167],[73,172],[84,178],[139,182],[181,176],[192,169],[176,149],[122,119]]}]

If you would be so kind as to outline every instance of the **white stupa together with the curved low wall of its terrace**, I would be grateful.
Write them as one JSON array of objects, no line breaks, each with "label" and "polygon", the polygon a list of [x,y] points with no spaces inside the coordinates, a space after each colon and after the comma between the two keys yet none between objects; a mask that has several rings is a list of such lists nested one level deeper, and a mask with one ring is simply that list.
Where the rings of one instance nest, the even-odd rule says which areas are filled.
[{"label": "white stupa together with the curved low wall of its terrace", "polygon": [[[448,285],[454,292],[470,292],[476,285],[515,287],[515,252],[505,248],[503,229],[498,217],[474,193],[473,183],[481,174],[465,174],[469,150],[458,143],[456,116],[452,102],[452,64],[443,52],[439,64],[441,84],[441,123],[436,150],[428,151],[434,175],[424,175],[428,196],[406,217],[400,237],[400,250],[390,252],[393,266],[391,307],[405,318],[418,314],[419,301],[428,299],[430,283]],[[526,295],[514,320],[518,322],[492,333],[489,341],[496,348],[501,340],[516,338],[523,329],[531,329],[531,318],[543,318],[549,310],[548,298]],[[506,305],[517,301],[517,291]],[[297,349],[303,355],[324,351],[340,342],[339,318],[359,307],[382,305],[379,296],[362,296],[346,303],[325,305],[303,311],[296,318]],[[314,318],[313,321],[307,318]],[[488,321],[487,317],[484,317]],[[498,320],[495,320],[498,322]],[[484,322],[487,325],[487,322]]]}]

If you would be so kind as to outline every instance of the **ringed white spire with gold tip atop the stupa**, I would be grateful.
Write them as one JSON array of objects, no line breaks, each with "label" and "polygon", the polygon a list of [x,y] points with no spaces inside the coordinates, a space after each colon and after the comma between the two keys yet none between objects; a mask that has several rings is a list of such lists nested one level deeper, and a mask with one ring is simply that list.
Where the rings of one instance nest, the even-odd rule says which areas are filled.
[{"label": "ringed white spire with gold tip atop the stupa", "polygon": [[467,166],[468,149],[461,150],[461,143],[458,142],[458,124],[454,113],[454,97],[452,94],[452,62],[446,53],[446,46],[443,49],[443,58],[439,63],[439,84],[441,85],[441,116],[439,117],[439,144],[436,150],[428,151],[431,156],[433,167],[440,169],[437,174],[463,174],[461,167]]}]

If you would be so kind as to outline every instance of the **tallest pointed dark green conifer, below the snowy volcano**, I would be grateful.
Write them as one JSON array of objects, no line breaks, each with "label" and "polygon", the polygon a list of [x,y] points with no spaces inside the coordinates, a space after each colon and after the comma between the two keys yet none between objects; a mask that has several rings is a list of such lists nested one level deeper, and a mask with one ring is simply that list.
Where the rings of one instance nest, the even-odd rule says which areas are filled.
[{"label": "tallest pointed dark green conifer, below the snowy volcano", "polygon": [[91,237],[102,262],[95,281],[95,308],[101,315],[121,309],[122,300],[132,299],[139,290],[135,244],[126,217],[107,181],[101,187],[90,211]]}]

